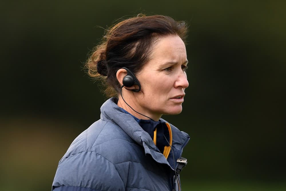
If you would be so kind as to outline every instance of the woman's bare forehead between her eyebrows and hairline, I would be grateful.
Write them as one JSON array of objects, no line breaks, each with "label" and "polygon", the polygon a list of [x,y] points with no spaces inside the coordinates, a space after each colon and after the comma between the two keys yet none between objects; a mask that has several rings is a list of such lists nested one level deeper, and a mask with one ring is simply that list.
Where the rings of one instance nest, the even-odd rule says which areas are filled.
[{"label": "woman's bare forehead between her eyebrows and hairline", "polygon": [[179,36],[159,37],[151,51],[150,60],[160,62],[180,62],[186,60],[186,47]]}]

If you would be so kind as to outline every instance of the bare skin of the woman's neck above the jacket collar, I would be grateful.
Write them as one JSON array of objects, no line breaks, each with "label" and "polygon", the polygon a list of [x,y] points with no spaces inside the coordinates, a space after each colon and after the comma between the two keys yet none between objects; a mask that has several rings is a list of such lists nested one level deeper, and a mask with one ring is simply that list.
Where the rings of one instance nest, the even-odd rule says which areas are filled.
[{"label": "bare skin of the woman's neck above the jacket collar", "polygon": [[[140,115],[139,113],[137,113],[137,112],[135,112],[133,109],[131,109],[131,108],[124,102],[124,100],[125,100],[125,101],[128,103],[128,105],[130,105],[135,111],[137,111],[137,112],[139,112],[139,113],[141,113],[141,114],[143,114],[143,115]],[[155,116],[155,115],[152,115],[152,114],[150,114],[150,113],[148,113],[148,112],[146,112],[146,111],[144,112],[143,109],[140,109],[140,107],[138,107],[138,104],[136,104],[136,102],[130,101],[131,99],[127,99],[127,100],[124,99],[124,100],[122,99],[121,96],[119,96],[117,105],[118,105],[119,107],[125,109],[128,113],[132,114],[133,116],[137,117],[138,119],[150,119],[150,118],[151,118],[151,119],[154,120],[154,121],[159,121],[161,115],[160,115],[160,116]],[[148,116],[148,117],[150,117],[150,118],[148,118],[148,117],[146,117],[146,116],[144,116],[144,115],[146,115],[146,116]]]}]

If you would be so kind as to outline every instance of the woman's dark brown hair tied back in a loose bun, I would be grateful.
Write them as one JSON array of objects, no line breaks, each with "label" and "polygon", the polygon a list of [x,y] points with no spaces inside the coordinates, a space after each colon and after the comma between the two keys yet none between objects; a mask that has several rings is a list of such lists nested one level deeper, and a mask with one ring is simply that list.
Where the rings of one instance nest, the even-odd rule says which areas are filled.
[{"label": "woman's dark brown hair tied back in a loose bun", "polygon": [[106,34],[93,49],[86,68],[92,78],[101,78],[107,85],[107,97],[117,97],[120,84],[116,72],[122,67],[135,75],[150,58],[156,39],[160,36],[178,35],[186,39],[187,26],[184,21],[177,22],[162,15],[137,15],[106,30]]}]

